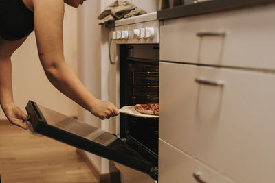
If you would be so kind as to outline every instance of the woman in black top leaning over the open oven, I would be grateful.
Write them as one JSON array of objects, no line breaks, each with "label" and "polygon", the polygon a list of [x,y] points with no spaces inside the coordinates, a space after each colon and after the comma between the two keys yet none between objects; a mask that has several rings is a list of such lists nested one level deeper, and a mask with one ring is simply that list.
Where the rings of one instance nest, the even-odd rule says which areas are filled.
[{"label": "woman in black top leaning over the open oven", "polygon": [[10,123],[27,129],[27,115],[13,101],[10,58],[33,30],[45,74],[58,90],[100,119],[119,114],[89,93],[63,56],[64,3],[77,8],[83,1],[0,0],[0,103]]}]

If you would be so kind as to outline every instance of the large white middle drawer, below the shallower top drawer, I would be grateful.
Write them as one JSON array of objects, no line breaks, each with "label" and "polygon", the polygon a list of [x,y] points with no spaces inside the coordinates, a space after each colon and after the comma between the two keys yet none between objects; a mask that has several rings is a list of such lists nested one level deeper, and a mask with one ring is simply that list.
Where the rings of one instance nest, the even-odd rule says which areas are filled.
[{"label": "large white middle drawer, below the shallower top drawer", "polygon": [[239,182],[275,182],[274,74],[161,62],[159,82],[159,138]]}]

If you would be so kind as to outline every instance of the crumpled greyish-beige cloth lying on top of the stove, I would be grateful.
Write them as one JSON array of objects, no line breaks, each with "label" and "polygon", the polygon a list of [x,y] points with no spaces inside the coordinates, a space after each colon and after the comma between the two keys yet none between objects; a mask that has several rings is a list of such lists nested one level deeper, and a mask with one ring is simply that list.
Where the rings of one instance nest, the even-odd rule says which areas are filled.
[{"label": "crumpled greyish-beige cloth lying on top of the stove", "polygon": [[100,25],[112,21],[115,19],[128,18],[131,16],[137,16],[140,14],[146,14],[146,11],[137,8],[133,3],[129,1],[116,0],[108,5],[102,13],[98,16],[101,21],[98,23]]}]

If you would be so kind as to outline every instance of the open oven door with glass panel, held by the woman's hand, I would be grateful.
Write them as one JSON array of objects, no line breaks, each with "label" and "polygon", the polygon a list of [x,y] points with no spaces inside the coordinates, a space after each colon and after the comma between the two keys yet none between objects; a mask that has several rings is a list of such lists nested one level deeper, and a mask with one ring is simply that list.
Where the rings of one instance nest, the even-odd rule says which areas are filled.
[{"label": "open oven door with glass panel, held by the woman's hand", "polygon": [[28,126],[35,133],[142,171],[157,180],[157,167],[115,135],[29,101]]}]

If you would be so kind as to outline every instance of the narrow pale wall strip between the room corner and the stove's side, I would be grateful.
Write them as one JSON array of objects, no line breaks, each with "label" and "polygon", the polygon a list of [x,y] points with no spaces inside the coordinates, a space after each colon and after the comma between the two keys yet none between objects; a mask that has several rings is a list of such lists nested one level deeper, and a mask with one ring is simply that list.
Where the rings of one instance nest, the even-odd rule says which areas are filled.
[{"label": "narrow pale wall strip between the room corner and the stove's side", "polygon": [[[98,14],[100,14],[100,1],[85,1],[84,5],[78,8],[78,75],[88,90],[101,99],[101,32]],[[78,114],[80,121],[101,128],[101,120],[87,110],[79,108]],[[102,158],[90,153],[87,153],[87,156],[101,173]]]}]

